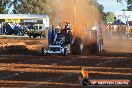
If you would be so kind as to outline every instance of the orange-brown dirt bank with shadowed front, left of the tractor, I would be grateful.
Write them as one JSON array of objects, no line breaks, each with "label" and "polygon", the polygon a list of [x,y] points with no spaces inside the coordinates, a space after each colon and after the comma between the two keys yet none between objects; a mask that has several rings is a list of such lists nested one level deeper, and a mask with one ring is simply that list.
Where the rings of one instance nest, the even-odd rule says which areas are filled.
[{"label": "orange-brown dirt bank with shadowed front, left of the tractor", "polygon": [[4,38],[0,39],[1,55],[29,55],[40,52],[41,48],[47,45],[46,39],[19,39]]}]

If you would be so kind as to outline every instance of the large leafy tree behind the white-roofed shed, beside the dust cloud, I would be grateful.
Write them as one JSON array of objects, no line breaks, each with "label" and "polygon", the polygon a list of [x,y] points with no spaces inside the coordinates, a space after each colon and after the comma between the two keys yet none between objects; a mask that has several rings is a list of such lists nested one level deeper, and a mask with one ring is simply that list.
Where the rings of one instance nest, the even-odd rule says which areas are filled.
[{"label": "large leafy tree behind the white-roofed shed, beside the dust cloud", "polygon": [[10,5],[14,6],[13,13],[21,14],[46,14],[47,0],[13,0]]}]

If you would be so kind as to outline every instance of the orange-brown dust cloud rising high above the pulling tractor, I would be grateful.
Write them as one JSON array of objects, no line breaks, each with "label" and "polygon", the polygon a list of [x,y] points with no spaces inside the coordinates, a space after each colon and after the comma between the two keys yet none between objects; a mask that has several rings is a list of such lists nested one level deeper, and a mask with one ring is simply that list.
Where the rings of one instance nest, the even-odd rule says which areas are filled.
[{"label": "orange-brown dust cloud rising high above the pulling tractor", "polygon": [[90,4],[90,0],[50,0],[51,24],[57,26],[69,21],[73,34],[84,36],[99,19],[97,8]]}]

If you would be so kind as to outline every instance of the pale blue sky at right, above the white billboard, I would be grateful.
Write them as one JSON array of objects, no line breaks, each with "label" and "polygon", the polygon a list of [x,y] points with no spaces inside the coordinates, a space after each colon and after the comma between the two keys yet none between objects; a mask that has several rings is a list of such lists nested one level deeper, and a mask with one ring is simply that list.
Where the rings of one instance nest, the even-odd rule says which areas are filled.
[{"label": "pale blue sky at right, above the white billboard", "polygon": [[117,0],[97,0],[100,4],[104,6],[104,12],[114,12],[121,11],[127,8],[127,4],[124,1],[123,4],[117,3]]}]

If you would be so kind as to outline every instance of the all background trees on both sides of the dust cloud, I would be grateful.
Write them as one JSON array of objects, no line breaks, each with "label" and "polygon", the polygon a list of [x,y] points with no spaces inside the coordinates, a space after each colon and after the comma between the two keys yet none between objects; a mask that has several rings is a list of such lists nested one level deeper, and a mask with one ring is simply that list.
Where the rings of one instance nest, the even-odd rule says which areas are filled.
[{"label": "all background trees on both sides of the dust cloud", "polygon": [[[52,0],[51,0],[52,1]],[[117,0],[117,2],[127,3],[127,11],[132,11],[132,0]],[[50,0],[0,0],[0,13],[12,14],[48,14]],[[103,5],[99,4],[97,0],[90,0],[90,4],[98,8],[100,17],[105,22],[112,21],[114,14],[112,12],[103,12]],[[10,11],[11,10],[11,11]]]}]

